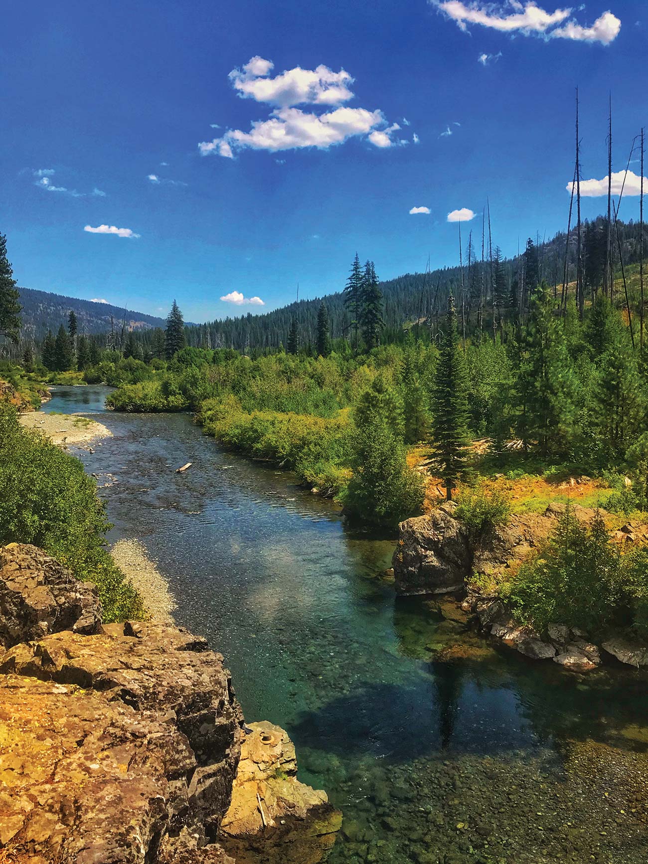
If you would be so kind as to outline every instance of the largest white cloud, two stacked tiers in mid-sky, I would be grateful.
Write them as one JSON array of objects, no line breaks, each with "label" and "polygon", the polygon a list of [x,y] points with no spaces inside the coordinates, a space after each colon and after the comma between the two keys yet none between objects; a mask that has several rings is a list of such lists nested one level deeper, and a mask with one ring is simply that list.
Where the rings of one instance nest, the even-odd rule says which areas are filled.
[{"label": "largest white cloud, two stacked tiers in mid-sky", "polygon": [[[273,105],[273,110],[270,118],[253,121],[249,131],[229,129],[212,141],[200,142],[202,156],[233,159],[241,149],[272,153],[307,147],[328,149],[360,136],[378,149],[407,143],[394,135],[400,126],[388,126],[379,109],[343,105],[353,98],[353,78],[344,69],[334,72],[326,66],[314,70],[295,67],[271,77],[272,68],[271,60],[252,57],[241,69],[232,70],[229,77],[238,96]],[[314,107],[304,110],[296,105]]]}]

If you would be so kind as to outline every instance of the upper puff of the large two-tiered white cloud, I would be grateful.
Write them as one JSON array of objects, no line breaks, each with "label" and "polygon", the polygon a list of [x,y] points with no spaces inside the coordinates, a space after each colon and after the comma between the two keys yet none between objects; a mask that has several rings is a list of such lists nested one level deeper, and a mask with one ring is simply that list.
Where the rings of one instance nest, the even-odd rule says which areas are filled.
[{"label": "upper puff of the large two-tiered white cloud", "polygon": [[293,105],[340,105],[353,98],[348,85],[353,78],[344,69],[334,72],[327,66],[316,69],[295,67],[268,78],[274,63],[252,57],[243,69],[232,69],[230,80],[241,98],[252,98],[280,108]]}]

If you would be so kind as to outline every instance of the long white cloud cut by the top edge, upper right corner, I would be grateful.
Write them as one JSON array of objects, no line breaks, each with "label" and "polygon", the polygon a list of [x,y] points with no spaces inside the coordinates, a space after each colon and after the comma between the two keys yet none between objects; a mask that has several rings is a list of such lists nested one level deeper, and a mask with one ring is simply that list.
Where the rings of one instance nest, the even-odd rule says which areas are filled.
[{"label": "long white cloud cut by the top edge, upper right corner", "polygon": [[[571,8],[543,10],[537,3],[503,0],[499,3],[463,2],[463,0],[429,0],[448,18],[466,31],[469,24],[478,24],[500,33],[539,35],[547,39],[600,42],[609,45],[619,35],[621,22],[609,10],[590,27],[576,22]],[[562,25],[562,26],[560,26]]]}]

